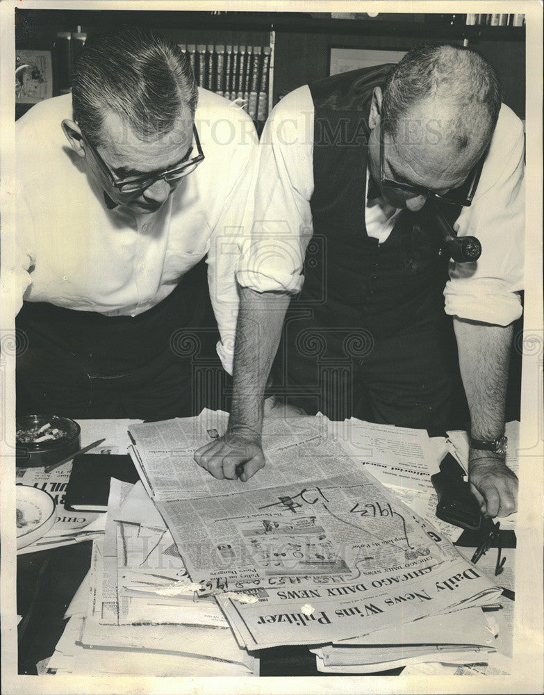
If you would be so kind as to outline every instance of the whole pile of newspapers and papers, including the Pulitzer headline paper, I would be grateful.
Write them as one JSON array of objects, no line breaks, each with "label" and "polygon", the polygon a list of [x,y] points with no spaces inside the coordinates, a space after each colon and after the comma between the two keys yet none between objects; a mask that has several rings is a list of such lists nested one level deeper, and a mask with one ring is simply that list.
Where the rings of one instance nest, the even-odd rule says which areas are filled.
[{"label": "whole pile of newspapers and papers, including the Pulitzer headline paper", "polygon": [[130,427],[140,482],[112,480],[85,610],[49,669],[91,645],[95,673],[119,672],[119,649],[160,651],[118,657],[148,675],[251,675],[256,650],[283,645],[307,645],[330,673],[488,661],[496,630],[481,607],[500,587],[397,494],[431,498],[425,431],[270,418],[266,466],[243,483],[194,461],[227,423],[204,410]]}]

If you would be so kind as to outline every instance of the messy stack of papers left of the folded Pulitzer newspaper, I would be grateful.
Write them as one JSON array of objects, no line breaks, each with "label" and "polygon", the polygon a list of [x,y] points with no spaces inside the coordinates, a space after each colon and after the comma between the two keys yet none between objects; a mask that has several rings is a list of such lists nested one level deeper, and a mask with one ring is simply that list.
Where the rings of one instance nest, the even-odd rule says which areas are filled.
[{"label": "messy stack of papers left of the folded Pulitzer newspaper", "polygon": [[216,601],[188,578],[141,483],[111,480],[104,541],[94,541],[65,617],[42,673],[258,675],[258,660],[238,646]]}]

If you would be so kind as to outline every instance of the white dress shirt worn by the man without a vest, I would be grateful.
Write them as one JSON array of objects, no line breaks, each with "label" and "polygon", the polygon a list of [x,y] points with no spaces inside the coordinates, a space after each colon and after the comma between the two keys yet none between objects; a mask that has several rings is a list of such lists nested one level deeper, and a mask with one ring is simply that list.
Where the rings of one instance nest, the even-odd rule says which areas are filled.
[{"label": "white dress shirt worn by the man without a vest", "polygon": [[[109,209],[60,124],[72,97],[47,99],[16,124],[17,258],[10,288],[19,300],[106,316],[136,316],[169,295],[206,256],[208,284],[231,371],[238,313],[236,270],[252,219],[254,125],[230,101],[199,89],[195,124],[204,161],[156,212]],[[23,295],[24,293],[24,295]]]}]

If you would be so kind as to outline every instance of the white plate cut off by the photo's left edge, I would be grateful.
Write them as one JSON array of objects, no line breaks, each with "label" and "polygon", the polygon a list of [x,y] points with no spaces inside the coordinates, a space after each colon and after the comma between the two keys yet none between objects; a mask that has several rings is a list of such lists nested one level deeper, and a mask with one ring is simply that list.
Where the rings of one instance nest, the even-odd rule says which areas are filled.
[{"label": "white plate cut off by the photo's left edge", "polygon": [[25,548],[44,536],[55,523],[55,500],[30,485],[16,486],[17,549]]}]

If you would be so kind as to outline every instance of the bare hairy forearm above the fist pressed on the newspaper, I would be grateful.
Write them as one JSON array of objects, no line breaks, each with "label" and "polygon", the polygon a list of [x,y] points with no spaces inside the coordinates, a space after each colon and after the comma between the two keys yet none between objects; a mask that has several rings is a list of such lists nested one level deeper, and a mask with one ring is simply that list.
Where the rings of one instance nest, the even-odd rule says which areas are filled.
[{"label": "bare hairy forearm above the fist pressed on the newspaper", "polygon": [[276,355],[290,295],[240,288],[229,429],[249,427],[261,434],[263,399]]}]

